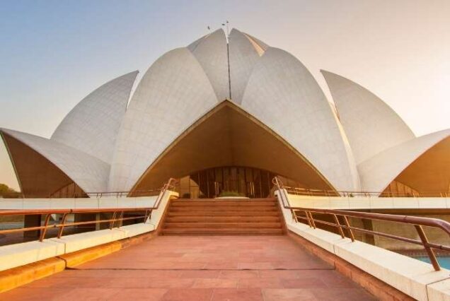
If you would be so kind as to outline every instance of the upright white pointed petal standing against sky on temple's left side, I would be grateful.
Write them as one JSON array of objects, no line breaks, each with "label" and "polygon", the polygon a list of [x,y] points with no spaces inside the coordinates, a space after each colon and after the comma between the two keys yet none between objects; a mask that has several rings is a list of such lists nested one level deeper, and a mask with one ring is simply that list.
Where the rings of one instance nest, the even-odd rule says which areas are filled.
[{"label": "upright white pointed petal standing against sky on temple's left side", "polygon": [[83,98],[59,124],[52,141],[111,163],[115,138],[138,71],[113,79]]}]

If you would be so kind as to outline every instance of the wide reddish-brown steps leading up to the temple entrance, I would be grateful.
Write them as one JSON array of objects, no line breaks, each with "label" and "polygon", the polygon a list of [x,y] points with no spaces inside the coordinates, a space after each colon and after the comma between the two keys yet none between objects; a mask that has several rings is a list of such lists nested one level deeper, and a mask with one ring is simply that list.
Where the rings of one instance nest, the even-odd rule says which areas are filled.
[{"label": "wide reddish-brown steps leading up to the temple entrance", "polygon": [[276,199],[176,199],[162,235],[281,235]]}]

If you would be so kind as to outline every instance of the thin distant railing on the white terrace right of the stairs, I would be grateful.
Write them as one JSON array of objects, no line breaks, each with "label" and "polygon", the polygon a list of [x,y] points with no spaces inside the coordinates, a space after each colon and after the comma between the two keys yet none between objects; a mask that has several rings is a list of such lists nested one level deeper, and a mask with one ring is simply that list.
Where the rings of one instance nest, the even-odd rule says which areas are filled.
[{"label": "thin distant railing on the white terrace right of the stairs", "polygon": [[301,196],[347,196],[347,197],[427,197],[427,196],[439,196],[439,197],[450,197],[449,191],[421,191],[412,192],[409,196],[402,192],[393,191],[337,191],[337,190],[323,190],[323,189],[308,189],[300,187],[289,187],[285,186],[289,194],[296,194]]}]

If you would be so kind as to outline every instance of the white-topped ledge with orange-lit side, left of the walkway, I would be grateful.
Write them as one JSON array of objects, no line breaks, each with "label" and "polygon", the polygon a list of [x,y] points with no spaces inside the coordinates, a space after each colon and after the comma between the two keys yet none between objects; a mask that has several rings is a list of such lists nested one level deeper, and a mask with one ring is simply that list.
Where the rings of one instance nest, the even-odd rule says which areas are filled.
[{"label": "white-topped ledge with orange-lit side, left of the walkway", "polygon": [[[0,293],[154,237],[172,196],[178,194],[166,191],[146,223],[0,247]],[[140,198],[133,199],[136,202]]]}]

